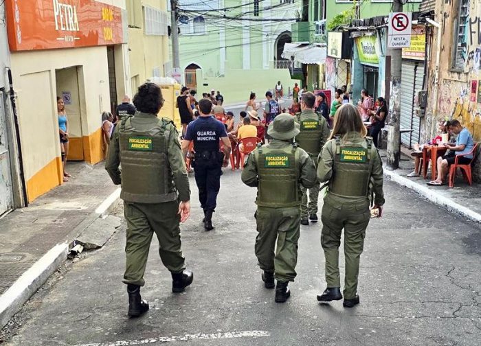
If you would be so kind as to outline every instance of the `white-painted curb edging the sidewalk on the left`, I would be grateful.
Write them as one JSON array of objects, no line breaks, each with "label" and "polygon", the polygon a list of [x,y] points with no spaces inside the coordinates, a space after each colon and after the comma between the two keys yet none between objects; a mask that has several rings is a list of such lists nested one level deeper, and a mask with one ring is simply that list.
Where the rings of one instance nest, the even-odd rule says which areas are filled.
[{"label": "white-painted curb edging the sidewalk on the left", "polygon": [[74,239],[78,237],[98,218],[107,218],[109,213],[120,203],[120,187],[107,197],[89,216],[75,227],[62,244],[50,249],[40,260],[34,263],[14,284],[0,295],[0,329],[19,312],[32,295],[41,288],[55,270],[67,260],[67,254]]}]

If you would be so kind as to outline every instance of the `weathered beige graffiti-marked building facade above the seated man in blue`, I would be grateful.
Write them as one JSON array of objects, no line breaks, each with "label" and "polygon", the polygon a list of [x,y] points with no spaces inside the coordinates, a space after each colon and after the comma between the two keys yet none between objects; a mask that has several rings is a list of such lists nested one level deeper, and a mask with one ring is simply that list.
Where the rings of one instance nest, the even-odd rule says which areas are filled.
[{"label": "weathered beige graffiti-marked building facade above the seated man in blue", "polygon": [[[481,141],[481,1],[429,0],[434,10],[428,37],[427,108],[423,139],[437,132],[441,119],[457,119]],[[478,160],[479,162],[479,160]],[[473,176],[481,180],[481,165]]]}]

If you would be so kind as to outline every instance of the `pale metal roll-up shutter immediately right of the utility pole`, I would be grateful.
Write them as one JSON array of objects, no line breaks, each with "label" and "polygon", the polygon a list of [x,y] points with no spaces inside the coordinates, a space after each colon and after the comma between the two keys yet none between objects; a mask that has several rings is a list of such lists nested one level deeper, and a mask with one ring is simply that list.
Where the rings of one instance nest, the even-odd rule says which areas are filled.
[{"label": "pale metal roll-up shutter immediately right of the utility pole", "polygon": [[[414,102],[414,79],[416,65],[414,62],[403,60],[401,73],[401,129],[412,128],[412,111]],[[411,147],[411,133],[401,134],[401,143]]]}]

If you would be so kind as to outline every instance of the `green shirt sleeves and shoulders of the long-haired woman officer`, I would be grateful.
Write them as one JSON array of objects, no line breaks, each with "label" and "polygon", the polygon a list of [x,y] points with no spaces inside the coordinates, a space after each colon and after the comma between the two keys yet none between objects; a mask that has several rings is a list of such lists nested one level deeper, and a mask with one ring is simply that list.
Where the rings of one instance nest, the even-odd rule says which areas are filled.
[{"label": "green shirt sleeves and shoulders of the long-haired woman officer", "polygon": [[[333,143],[334,142],[334,143]],[[366,139],[362,138],[359,133],[349,132],[341,139],[343,146],[356,146],[368,148]],[[317,178],[321,183],[325,183],[333,176],[333,160],[335,157],[335,139],[328,141],[317,159]],[[383,193],[383,161],[379,157],[379,152],[376,147],[371,147],[372,160],[372,189],[374,192],[374,204],[384,205]]]}]

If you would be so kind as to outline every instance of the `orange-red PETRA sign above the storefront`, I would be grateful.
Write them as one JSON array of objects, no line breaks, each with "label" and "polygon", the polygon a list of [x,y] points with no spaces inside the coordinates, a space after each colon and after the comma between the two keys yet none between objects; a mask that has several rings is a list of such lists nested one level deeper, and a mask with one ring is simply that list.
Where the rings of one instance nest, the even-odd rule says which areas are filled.
[{"label": "orange-red PETRA sign above the storefront", "polygon": [[124,43],[122,10],[95,0],[6,0],[12,51]]}]

